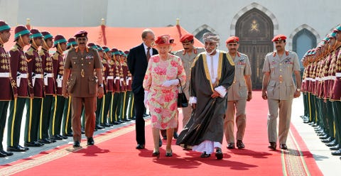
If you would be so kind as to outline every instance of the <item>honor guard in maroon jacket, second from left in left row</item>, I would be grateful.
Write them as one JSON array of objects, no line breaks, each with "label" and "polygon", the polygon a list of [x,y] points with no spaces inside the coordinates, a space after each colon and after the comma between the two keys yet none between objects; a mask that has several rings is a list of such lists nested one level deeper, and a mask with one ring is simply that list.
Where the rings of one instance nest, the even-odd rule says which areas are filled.
[{"label": "honor guard in maroon jacket, second from left in left row", "polygon": [[7,150],[22,152],[28,150],[19,145],[21,119],[26,99],[33,98],[33,87],[28,79],[28,67],[23,47],[30,44],[30,31],[25,26],[16,26],[14,41],[16,44],[9,51],[11,55],[11,77],[16,82],[17,89],[14,89],[14,99],[11,101],[9,109],[9,123],[7,132]]}]

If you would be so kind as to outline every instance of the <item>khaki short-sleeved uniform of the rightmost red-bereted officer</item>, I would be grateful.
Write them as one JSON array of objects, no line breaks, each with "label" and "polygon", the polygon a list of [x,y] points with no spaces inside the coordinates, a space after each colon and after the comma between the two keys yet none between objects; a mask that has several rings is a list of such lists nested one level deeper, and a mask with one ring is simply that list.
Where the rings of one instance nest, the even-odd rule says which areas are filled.
[{"label": "khaki short-sleeved uniform of the rightmost red-bereted officer", "polygon": [[277,141],[277,117],[279,109],[279,143],[286,144],[290,128],[291,104],[296,86],[293,83],[293,72],[300,71],[298,55],[286,51],[281,57],[276,51],[266,55],[263,72],[269,72],[267,86],[268,96],[268,138],[269,142]]}]

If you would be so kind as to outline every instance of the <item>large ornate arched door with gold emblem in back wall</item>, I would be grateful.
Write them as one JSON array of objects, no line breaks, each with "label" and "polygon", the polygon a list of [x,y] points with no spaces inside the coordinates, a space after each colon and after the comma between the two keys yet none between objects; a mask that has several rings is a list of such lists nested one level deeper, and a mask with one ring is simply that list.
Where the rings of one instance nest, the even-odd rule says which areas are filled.
[{"label": "large ornate arched door with gold emblem in back wall", "polygon": [[274,50],[274,24],[269,16],[258,9],[251,9],[236,23],[239,52],[249,56],[253,89],[261,89],[263,64],[267,53]]}]

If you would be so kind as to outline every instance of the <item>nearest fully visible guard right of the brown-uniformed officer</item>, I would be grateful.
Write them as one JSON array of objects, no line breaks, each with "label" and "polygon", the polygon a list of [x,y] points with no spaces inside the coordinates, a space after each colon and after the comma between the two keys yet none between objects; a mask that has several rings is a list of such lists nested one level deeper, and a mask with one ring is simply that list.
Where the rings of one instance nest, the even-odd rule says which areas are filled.
[{"label": "nearest fully visible guard right of the brown-uniformed officer", "polygon": [[102,59],[103,72],[104,72],[104,96],[100,111],[100,124],[101,126],[108,127],[112,126],[108,123],[108,112],[112,101],[112,92],[114,91],[114,72],[110,63],[112,62],[112,51],[107,47],[102,47],[104,56]]}]

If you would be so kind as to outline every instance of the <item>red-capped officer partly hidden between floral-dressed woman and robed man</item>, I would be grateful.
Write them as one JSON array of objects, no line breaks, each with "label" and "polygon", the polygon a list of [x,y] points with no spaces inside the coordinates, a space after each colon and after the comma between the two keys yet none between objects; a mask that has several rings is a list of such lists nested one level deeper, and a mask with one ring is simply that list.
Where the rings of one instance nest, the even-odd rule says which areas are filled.
[{"label": "red-capped officer partly hidden between floral-dressed woman and robed man", "polygon": [[[185,72],[187,75],[186,84],[183,86],[183,91],[185,92],[186,97],[189,99],[189,87],[190,87],[190,67],[192,66],[192,62],[195,57],[199,53],[205,51],[204,48],[197,48],[194,46],[194,36],[190,33],[183,35],[180,38],[180,42],[183,44],[183,50],[178,50],[174,53],[174,55],[181,58],[183,61],[183,67],[185,68]],[[192,108],[190,106],[182,108],[183,109],[183,127],[185,127],[186,123],[188,123],[190,119],[190,114],[192,113]]]}]

